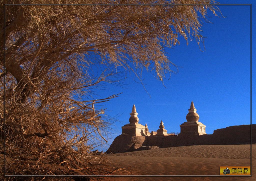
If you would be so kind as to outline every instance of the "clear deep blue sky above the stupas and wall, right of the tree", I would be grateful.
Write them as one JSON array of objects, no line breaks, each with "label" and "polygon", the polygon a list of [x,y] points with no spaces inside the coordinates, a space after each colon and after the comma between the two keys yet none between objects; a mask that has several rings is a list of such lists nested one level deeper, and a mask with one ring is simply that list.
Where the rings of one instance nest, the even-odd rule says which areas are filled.
[{"label": "clear deep blue sky above the stupas and wall, right of the tree", "polygon": [[[251,4],[252,1],[223,3]],[[205,51],[200,51],[196,41],[189,42],[187,46],[182,37],[180,45],[166,49],[170,61],[180,68],[170,79],[164,79],[165,86],[151,72],[143,71],[146,90],[131,73],[127,74],[123,82],[127,84],[124,88],[106,84],[107,89],[98,91],[98,96],[95,96],[98,99],[122,92],[119,97],[101,104],[109,116],[119,120],[112,126],[114,130],[109,135],[112,139],[108,145],[121,134],[121,126],[129,123],[133,104],[136,106],[139,123],[147,123],[150,132],[158,129],[161,120],[167,133],[180,132],[179,125],[186,121],[191,100],[200,116],[199,122],[206,125],[207,134],[227,126],[250,124],[250,6],[218,7],[226,18],[216,17],[209,12],[209,20],[213,24],[203,21],[201,34],[206,36]],[[252,12],[253,9],[254,6]],[[255,19],[255,12],[252,19]],[[252,32],[253,29],[255,23]],[[254,51],[252,56],[255,56]],[[254,70],[255,64],[252,72]],[[255,124],[254,105],[252,121]],[[105,151],[108,145],[98,149]]]}]

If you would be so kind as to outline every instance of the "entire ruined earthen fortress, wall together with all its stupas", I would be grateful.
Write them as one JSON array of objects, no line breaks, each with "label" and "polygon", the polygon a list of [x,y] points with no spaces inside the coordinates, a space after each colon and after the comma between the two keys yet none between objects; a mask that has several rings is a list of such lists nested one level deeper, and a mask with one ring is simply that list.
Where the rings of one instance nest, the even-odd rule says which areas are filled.
[{"label": "entire ruined earthen fortress, wall together with all its stupas", "polygon": [[[180,133],[167,133],[163,121],[159,129],[149,132],[147,124],[139,123],[135,105],[132,107],[128,124],[122,126],[122,134],[116,137],[106,153],[121,153],[145,149],[166,148],[186,145],[221,145],[244,144],[251,142],[251,125],[230,126],[215,130],[213,134],[206,134],[206,126],[199,122],[193,101],[191,101],[187,122],[180,125]],[[256,125],[252,125],[254,130]],[[256,134],[252,135],[256,140]]]}]

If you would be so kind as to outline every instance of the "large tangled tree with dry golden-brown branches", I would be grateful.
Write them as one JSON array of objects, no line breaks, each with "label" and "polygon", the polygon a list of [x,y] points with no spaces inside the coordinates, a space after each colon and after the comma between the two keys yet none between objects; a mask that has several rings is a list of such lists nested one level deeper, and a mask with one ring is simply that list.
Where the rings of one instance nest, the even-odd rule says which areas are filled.
[{"label": "large tangled tree with dry golden-brown branches", "polygon": [[[93,139],[105,140],[109,123],[94,105],[117,95],[96,100],[92,88],[113,83],[118,66],[138,77],[137,70],[153,70],[163,81],[174,65],[164,48],[179,44],[179,36],[200,44],[200,19],[208,21],[208,10],[219,11],[210,0],[103,3],[115,5],[6,5],[5,22],[2,8],[0,126],[3,151],[5,122],[6,174],[113,173],[115,168],[90,150]],[[121,5],[139,3],[166,5]],[[108,68],[95,75],[90,72],[95,64]]]}]

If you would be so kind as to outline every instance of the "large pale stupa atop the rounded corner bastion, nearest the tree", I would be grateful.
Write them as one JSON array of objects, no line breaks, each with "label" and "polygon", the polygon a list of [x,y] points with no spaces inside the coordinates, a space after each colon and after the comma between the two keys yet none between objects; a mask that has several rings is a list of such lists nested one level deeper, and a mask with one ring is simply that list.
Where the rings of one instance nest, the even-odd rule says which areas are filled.
[{"label": "large pale stupa atop the rounded corner bastion, nearest the tree", "polygon": [[145,136],[145,126],[139,124],[138,113],[136,111],[135,105],[132,107],[132,112],[130,113],[130,119],[128,124],[122,126],[122,134],[127,136]]}]

